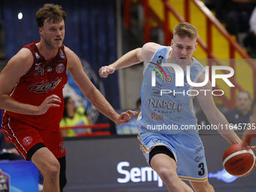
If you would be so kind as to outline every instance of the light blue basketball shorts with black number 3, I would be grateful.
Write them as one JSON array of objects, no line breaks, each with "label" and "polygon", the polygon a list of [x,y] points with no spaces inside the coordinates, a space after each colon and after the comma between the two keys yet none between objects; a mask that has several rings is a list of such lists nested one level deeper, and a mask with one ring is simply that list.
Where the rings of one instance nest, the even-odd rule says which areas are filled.
[{"label": "light blue basketball shorts with black number 3", "polygon": [[150,151],[157,145],[164,145],[175,157],[179,178],[188,181],[207,181],[206,157],[198,133],[161,134],[141,128],[138,139],[148,164]]}]

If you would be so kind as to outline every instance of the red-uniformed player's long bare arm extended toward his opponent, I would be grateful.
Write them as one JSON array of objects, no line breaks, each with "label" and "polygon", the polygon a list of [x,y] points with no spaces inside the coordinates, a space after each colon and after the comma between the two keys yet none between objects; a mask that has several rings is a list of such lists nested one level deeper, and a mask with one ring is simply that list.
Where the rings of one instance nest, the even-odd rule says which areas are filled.
[{"label": "red-uniformed player's long bare arm extended toward his opponent", "polygon": [[130,110],[123,112],[122,114],[117,114],[105,97],[102,96],[102,93],[96,89],[87,77],[78,56],[67,47],[65,48],[65,52],[68,58],[67,69],[69,70],[70,75],[72,75],[72,78],[75,80],[76,84],[78,84],[78,87],[81,89],[82,93],[84,93],[84,96],[86,96],[94,107],[96,107],[102,114],[105,114],[105,116],[120,125],[130,122],[130,117],[138,114],[138,111]]}]

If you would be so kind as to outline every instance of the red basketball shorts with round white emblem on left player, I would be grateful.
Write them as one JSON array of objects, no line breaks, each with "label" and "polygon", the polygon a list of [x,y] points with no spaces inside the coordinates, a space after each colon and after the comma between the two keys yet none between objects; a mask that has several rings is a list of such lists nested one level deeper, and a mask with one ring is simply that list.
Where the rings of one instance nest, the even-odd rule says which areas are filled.
[{"label": "red basketball shorts with round white emblem on left player", "polygon": [[[38,130],[36,127],[16,120],[14,117],[7,114],[4,115],[2,120],[2,129],[5,131],[11,143],[17,148],[19,154],[26,160],[30,160],[30,158],[27,157],[28,152],[30,154],[29,156],[32,156],[35,151],[44,147],[44,145],[56,158],[66,155],[63,139],[59,130],[51,128],[52,127],[48,127],[47,130]],[[29,151],[30,149],[31,151]]]}]

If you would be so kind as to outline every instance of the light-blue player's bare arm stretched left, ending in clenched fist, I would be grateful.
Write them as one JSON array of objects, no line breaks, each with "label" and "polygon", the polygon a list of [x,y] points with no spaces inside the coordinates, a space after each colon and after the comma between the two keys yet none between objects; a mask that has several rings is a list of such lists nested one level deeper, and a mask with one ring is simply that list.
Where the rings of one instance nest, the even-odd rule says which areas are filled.
[{"label": "light-blue player's bare arm stretched left, ending in clenched fist", "polygon": [[142,48],[131,50],[130,52],[121,56],[120,59],[117,59],[117,61],[111,65],[102,66],[102,68],[99,69],[99,76],[102,78],[107,78],[109,74],[114,73],[117,69],[133,66],[139,62],[142,62],[144,59],[151,59],[159,46],[160,44],[147,43],[144,44]]}]

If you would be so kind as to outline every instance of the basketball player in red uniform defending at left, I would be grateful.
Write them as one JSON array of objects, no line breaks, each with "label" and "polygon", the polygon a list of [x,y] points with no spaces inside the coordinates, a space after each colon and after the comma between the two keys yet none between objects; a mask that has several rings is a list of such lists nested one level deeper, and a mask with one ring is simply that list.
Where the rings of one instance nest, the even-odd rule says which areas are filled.
[{"label": "basketball player in red uniform defending at left", "polygon": [[44,175],[44,191],[66,185],[66,151],[59,132],[66,71],[90,102],[117,124],[129,122],[137,111],[117,114],[84,73],[80,59],[62,44],[66,13],[46,4],[35,18],[41,41],[23,47],[0,75],[2,128],[17,151]]}]

